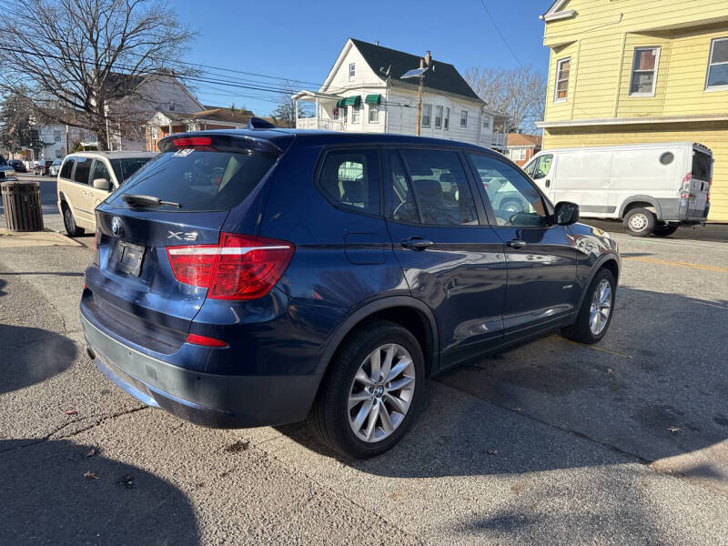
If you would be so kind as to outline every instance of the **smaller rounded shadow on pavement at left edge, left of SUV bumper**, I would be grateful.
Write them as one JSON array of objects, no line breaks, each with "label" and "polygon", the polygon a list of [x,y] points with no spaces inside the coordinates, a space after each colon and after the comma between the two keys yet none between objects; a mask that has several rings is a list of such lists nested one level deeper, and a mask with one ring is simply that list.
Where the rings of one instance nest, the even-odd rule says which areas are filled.
[{"label": "smaller rounded shadow on pavement at left edge, left of SUV bumper", "polygon": [[52,378],[76,359],[74,342],[46,329],[0,324],[0,348],[0,394]]}]

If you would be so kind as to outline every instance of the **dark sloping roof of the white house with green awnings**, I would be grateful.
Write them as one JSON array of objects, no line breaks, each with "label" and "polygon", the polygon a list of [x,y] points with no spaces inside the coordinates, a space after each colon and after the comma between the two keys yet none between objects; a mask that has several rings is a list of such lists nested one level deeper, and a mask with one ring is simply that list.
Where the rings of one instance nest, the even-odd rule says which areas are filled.
[{"label": "dark sloping roof of the white house with green awnings", "polygon": [[[422,57],[398,51],[397,49],[390,49],[382,45],[369,44],[369,42],[362,42],[354,38],[349,39],[359,49],[361,56],[364,57],[364,60],[374,74],[379,76],[380,79],[385,80],[387,76],[382,74],[379,68],[384,68],[386,71],[390,67],[389,76],[393,83],[402,85],[414,84],[414,80],[403,80],[399,76],[402,76],[412,68],[418,68]],[[460,72],[458,72],[455,66],[435,59],[432,59],[430,66],[434,66],[434,69],[430,68],[425,73],[425,89],[436,89],[446,93],[466,96],[470,100],[483,102],[480,96],[476,95],[475,91],[468,85],[465,78],[460,76]]]}]

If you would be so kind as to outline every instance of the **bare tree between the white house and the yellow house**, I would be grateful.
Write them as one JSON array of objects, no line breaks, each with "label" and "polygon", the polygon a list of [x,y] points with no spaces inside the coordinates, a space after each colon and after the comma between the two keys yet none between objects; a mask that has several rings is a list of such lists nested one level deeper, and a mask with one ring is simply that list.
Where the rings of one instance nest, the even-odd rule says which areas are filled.
[{"label": "bare tree between the white house and the yellow house", "polygon": [[533,130],[543,119],[546,77],[530,65],[511,70],[470,68],[465,79],[489,108],[511,117],[509,132]]}]

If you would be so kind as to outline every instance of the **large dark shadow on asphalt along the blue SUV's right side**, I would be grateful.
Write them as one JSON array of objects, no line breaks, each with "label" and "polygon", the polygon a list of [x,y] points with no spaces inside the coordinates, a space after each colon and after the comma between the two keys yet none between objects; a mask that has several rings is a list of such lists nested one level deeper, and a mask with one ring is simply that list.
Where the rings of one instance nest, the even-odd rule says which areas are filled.
[{"label": "large dark shadow on asphalt along the blue SUV's right side", "polygon": [[378,458],[342,459],[302,425],[278,430],[384,476],[650,462],[728,438],[726,338],[728,302],[622,287],[598,344],[552,335],[430,380],[420,419]]}]

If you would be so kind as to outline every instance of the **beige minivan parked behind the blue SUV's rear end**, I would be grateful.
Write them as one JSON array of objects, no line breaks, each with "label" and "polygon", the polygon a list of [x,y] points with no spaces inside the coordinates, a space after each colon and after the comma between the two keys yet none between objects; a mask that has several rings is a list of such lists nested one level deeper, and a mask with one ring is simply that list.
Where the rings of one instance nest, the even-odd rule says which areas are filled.
[{"label": "beige minivan parked behind the blue SUV's rear end", "polygon": [[156,152],[77,152],[63,160],[56,180],[58,210],[66,232],[77,237],[96,230],[94,208]]}]

